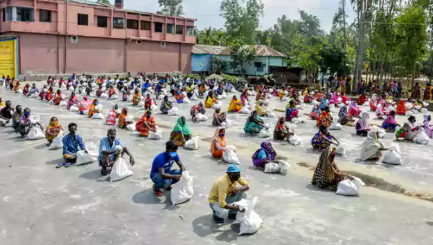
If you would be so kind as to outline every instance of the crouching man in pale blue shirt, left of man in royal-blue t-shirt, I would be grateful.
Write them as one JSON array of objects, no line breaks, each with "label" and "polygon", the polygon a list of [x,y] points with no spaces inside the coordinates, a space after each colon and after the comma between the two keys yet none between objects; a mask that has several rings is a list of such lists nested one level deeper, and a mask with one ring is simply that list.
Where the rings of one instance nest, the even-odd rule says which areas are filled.
[{"label": "crouching man in pale blue shirt, left of man in royal-blue t-shirt", "polygon": [[99,166],[102,167],[100,170],[101,175],[107,175],[107,167],[111,168],[114,165],[114,162],[116,162],[116,146],[122,147],[121,157],[123,157],[123,154],[126,153],[130,157],[130,164],[132,166],[135,164],[134,157],[132,157],[130,150],[127,149],[120,139],[116,139],[116,135],[116,129],[109,128],[107,137],[100,139],[98,162]]}]

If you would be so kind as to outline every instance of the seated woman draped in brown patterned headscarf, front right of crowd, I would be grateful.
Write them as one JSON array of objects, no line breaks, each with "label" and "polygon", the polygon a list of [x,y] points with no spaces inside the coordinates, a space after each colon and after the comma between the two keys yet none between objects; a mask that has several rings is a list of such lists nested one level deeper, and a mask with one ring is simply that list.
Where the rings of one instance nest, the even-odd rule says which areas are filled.
[{"label": "seated woman draped in brown patterned headscarf, front right of crowd", "polygon": [[320,155],[311,184],[319,188],[337,190],[339,182],[344,178],[353,179],[351,175],[343,173],[335,164],[336,150],[332,146],[326,148]]}]

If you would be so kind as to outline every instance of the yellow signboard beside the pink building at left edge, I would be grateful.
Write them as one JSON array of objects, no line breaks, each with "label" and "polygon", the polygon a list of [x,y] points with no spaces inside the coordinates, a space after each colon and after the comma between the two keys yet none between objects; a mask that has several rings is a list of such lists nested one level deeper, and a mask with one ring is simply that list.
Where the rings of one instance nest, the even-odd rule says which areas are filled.
[{"label": "yellow signboard beside the pink building at left edge", "polygon": [[18,77],[17,39],[0,40],[0,77]]}]

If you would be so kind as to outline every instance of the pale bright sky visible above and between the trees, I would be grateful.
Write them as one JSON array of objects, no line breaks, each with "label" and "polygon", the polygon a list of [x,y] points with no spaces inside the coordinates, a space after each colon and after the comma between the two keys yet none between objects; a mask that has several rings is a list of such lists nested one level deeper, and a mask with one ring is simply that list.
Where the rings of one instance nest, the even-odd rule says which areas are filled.
[{"label": "pale bright sky visible above and between the trees", "polygon": [[[96,0],[94,0],[96,1]],[[110,0],[114,3],[114,0]],[[199,29],[212,26],[222,28],[224,19],[220,17],[222,0],[184,0],[184,17],[197,19],[195,26]],[[265,4],[265,16],[260,21],[260,28],[274,26],[276,19],[285,14],[289,19],[299,19],[298,10],[304,10],[316,15],[321,21],[321,27],[327,32],[333,24],[333,15],[337,12],[340,0],[262,0]],[[346,0],[348,23],[353,21],[355,12]],[[124,0],[125,9],[145,12],[157,12],[158,0]]]}]

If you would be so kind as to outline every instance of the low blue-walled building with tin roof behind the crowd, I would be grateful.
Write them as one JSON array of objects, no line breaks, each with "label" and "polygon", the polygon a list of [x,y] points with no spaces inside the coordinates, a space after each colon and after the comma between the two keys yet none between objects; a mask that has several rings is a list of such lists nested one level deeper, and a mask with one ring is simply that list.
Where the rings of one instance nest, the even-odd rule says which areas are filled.
[{"label": "low blue-walled building with tin roof behind the crowd", "polygon": [[[257,50],[257,56],[251,64],[244,64],[243,69],[245,70],[245,73],[242,75],[268,75],[271,66],[287,67],[287,62],[285,61],[285,55],[283,53],[264,45],[256,45],[254,47]],[[234,71],[230,66],[230,48],[209,45],[194,46],[192,55],[193,72],[211,73],[211,60],[214,56],[227,62],[228,66],[227,69],[224,70],[224,73],[239,75],[239,73]]]}]

